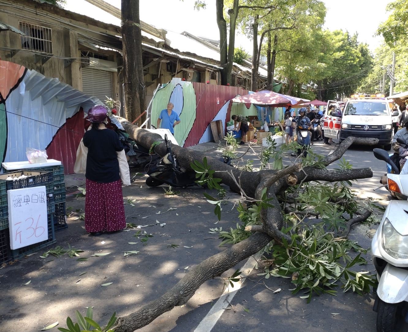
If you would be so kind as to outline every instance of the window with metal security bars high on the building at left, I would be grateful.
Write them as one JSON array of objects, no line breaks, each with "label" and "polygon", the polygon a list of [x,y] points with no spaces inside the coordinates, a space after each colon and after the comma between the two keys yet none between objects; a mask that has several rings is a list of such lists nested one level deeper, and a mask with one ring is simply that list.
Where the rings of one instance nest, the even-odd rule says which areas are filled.
[{"label": "window with metal security bars high on the building at left", "polygon": [[20,22],[20,30],[26,34],[21,36],[21,48],[52,54],[51,29]]}]

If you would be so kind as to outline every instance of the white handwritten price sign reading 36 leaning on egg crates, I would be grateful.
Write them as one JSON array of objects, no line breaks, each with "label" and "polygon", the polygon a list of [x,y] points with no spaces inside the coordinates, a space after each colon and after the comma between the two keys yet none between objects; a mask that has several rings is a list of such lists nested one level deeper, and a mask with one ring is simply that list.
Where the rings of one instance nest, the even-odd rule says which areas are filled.
[{"label": "white handwritten price sign reading 36 leaning on egg crates", "polygon": [[45,186],[8,190],[7,198],[11,249],[47,240]]}]

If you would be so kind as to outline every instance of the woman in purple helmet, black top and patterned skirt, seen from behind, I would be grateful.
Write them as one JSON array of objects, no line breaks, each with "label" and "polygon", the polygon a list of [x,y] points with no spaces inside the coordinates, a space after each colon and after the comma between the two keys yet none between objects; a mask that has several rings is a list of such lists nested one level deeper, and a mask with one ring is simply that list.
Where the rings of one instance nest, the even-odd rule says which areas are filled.
[{"label": "woman in purple helmet, black top and patterned skirt, seen from behind", "polygon": [[86,156],[85,229],[92,235],[126,227],[117,152],[123,150],[118,135],[106,129],[109,109],[95,105],[88,111],[92,129],[83,138]]}]

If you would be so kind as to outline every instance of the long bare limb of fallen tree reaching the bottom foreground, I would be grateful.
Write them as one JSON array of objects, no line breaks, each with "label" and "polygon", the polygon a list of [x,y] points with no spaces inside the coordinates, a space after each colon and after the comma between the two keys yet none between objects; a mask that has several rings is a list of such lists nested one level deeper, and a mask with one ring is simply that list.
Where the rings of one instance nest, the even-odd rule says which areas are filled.
[{"label": "long bare limb of fallen tree reaching the bottom foreground", "polygon": [[205,261],[189,269],[187,274],[166,294],[136,312],[119,317],[112,329],[115,332],[133,332],[142,328],[164,312],[186,303],[205,281],[222,274],[238,262],[256,254],[271,240],[272,238],[264,233],[255,233],[223,252],[208,257]]}]

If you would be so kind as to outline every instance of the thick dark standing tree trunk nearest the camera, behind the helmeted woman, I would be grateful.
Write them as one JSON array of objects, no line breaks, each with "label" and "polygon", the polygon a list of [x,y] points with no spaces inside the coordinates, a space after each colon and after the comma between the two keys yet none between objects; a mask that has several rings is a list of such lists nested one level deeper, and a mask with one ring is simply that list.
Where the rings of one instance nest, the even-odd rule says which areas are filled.
[{"label": "thick dark standing tree trunk nearest the camera, behind the helmeted woman", "polygon": [[[146,109],[143,77],[142,34],[140,31],[139,0],[122,0],[122,43],[125,94],[125,117],[135,120]],[[142,116],[138,123],[143,123]]]}]

